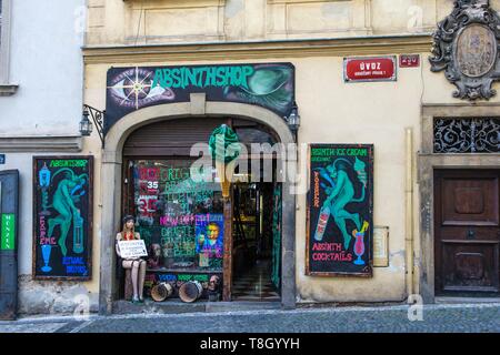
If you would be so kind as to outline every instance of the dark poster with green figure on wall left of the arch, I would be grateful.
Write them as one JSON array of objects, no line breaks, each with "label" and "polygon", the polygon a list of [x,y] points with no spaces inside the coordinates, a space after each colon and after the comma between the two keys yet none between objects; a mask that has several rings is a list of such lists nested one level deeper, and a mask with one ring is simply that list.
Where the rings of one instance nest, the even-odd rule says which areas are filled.
[{"label": "dark poster with green figure on wall left of the arch", "polygon": [[92,156],[33,158],[33,277],[90,280]]}]

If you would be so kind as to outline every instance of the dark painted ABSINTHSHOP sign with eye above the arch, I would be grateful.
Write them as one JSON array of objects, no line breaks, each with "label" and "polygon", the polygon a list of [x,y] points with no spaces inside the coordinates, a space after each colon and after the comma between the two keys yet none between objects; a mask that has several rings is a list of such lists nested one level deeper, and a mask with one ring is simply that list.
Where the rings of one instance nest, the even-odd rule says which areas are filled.
[{"label": "dark painted ABSINTHSHOP sign with eye above the arch", "polygon": [[207,101],[254,104],[289,116],[294,102],[291,63],[110,68],[104,132],[142,108],[189,102],[191,93]]}]

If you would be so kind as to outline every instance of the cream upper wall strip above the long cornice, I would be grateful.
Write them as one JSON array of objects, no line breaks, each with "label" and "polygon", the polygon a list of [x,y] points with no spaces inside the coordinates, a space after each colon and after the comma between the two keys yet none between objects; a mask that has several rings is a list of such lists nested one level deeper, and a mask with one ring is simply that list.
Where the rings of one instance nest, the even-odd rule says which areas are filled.
[{"label": "cream upper wall strip above the long cornice", "polygon": [[451,0],[91,0],[87,44],[418,34],[451,8]]}]

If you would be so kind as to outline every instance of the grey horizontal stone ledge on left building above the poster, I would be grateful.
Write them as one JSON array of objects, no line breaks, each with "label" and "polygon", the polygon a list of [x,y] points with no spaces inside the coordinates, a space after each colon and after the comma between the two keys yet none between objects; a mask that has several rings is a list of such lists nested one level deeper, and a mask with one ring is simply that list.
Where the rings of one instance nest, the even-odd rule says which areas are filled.
[{"label": "grey horizontal stone ledge on left building above the poster", "polygon": [[81,152],[80,135],[0,136],[1,152]]}]

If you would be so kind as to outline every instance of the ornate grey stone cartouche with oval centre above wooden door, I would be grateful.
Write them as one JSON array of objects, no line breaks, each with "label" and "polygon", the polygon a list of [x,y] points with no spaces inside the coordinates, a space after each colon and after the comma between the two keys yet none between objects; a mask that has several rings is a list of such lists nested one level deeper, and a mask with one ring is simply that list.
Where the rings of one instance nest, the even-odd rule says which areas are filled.
[{"label": "ornate grey stone cartouche with oval centre above wooden door", "polygon": [[454,98],[489,100],[500,80],[500,17],[489,0],[456,0],[433,34],[431,70],[446,71]]}]

